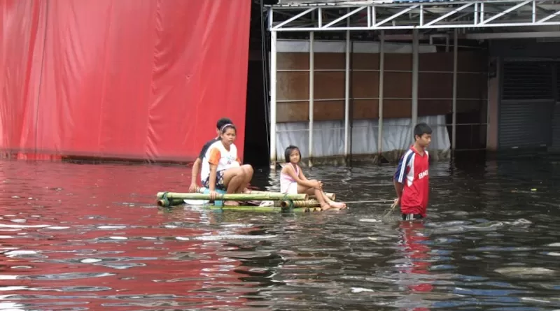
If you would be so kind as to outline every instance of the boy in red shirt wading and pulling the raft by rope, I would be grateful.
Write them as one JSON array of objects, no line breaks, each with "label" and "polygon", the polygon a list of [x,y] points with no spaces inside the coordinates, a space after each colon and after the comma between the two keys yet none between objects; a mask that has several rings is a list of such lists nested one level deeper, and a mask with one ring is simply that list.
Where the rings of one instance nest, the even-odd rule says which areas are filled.
[{"label": "boy in red shirt wading and pulling the raft by rope", "polygon": [[414,126],[414,145],[400,158],[393,184],[397,192],[395,204],[400,204],[402,220],[426,217],[428,206],[428,150],[432,129],[426,123]]}]

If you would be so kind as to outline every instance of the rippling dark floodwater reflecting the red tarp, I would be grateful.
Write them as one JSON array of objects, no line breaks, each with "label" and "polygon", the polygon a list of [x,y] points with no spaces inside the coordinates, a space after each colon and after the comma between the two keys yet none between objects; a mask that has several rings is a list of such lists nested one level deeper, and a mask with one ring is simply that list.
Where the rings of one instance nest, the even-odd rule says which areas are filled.
[{"label": "rippling dark floodwater reflecting the red tarp", "polygon": [[[395,166],[314,168],[344,201]],[[388,203],[158,208],[181,166],[0,161],[0,310],[560,310],[560,162],[438,162],[424,222]],[[279,189],[278,176],[253,185]]]}]

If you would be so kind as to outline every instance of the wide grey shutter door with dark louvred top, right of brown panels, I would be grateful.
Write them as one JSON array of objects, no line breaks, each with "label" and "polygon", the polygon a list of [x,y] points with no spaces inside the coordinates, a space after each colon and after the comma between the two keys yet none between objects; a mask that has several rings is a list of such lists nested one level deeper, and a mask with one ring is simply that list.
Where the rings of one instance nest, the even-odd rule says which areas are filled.
[{"label": "wide grey shutter door with dark louvred top, right of brown panels", "polygon": [[552,64],[504,62],[498,143],[500,149],[551,144]]}]

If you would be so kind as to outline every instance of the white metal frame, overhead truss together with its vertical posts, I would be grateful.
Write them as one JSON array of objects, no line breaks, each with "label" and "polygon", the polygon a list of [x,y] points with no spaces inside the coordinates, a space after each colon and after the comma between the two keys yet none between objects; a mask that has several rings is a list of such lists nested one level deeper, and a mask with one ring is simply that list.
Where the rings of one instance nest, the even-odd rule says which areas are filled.
[{"label": "white metal frame, overhead truss together with its vertical posts", "polygon": [[[309,165],[313,145],[314,32],[345,31],[346,66],[344,99],[344,156],[349,155],[350,31],[379,31],[379,138],[383,129],[383,76],[386,30],[412,29],[412,124],[417,120],[420,29],[454,29],[453,108],[451,149],[456,147],[456,92],[458,29],[473,32],[494,27],[560,25],[560,0],[426,0],[426,1],[339,1],[336,3],[292,3],[267,6],[270,48],[270,161],[276,167],[276,43],[279,32],[309,32]],[[538,34],[535,32],[535,34]],[[469,38],[469,34],[465,36]],[[481,36],[480,38],[484,38]],[[411,129],[412,131],[412,129]]]}]

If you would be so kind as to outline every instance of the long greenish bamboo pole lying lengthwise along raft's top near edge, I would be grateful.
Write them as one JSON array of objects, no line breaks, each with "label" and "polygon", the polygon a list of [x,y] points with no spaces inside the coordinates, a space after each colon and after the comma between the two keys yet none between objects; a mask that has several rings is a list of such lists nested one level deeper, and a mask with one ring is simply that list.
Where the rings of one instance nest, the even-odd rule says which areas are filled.
[{"label": "long greenish bamboo pole lying lengthwise along raft's top near edge", "polygon": [[[163,198],[166,192],[158,192],[158,199]],[[167,192],[167,199],[181,198],[187,200],[210,200],[210,194]],[[274,201],[274,200],[307,200],[307,194],[216,194],[216,201]]]}]

